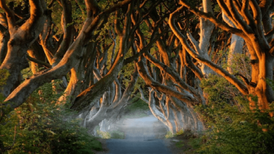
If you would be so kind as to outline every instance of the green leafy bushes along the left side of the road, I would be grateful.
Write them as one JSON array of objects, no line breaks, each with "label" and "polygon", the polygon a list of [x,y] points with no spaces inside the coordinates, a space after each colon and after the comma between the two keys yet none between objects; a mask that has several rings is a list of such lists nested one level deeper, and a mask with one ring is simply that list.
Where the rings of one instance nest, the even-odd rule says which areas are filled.
[{"label": "green leafy bushes along the left side of the road", "polygon": [[92,153],[101,143],[79,127],[61,94],[45,84],[16,110],[3,118],[0,125],[2,153]]}]

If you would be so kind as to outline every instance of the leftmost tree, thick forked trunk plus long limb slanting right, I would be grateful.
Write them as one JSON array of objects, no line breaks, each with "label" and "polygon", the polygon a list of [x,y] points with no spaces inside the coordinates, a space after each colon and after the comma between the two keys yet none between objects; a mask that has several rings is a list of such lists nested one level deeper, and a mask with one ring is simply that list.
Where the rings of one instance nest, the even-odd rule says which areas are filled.
[{"label": "leftmost tree, thick forked trunk plus long limb slanting right", "polygon": [[[63,3],[63,6],[65,6],[64,4],[66,1],[61,1],[61,2]],[[1,64],[1,69],[7,69],[10,71],[10,77],[7,81],[7,84],[3,88],[3,94],[5,95],[5,97],[7,97],[5,101],[10,103],[5,103],[4,105],[5,106],[10,105],[12,109],[15,107],[18,107],[25,101],[25,99],[27,99],[29,94],[31,94],[36,88],[38,88],[42,84],[45,84],[46,82],[49,82],[52,79],[58,79],[65,76],[66,73],[68,73],[69,70],[71,70],[71,68],[73,67],[77,68],[77,66],[82,60],[81,57],[84,55],[86,44],[92,37],[92,34],[93,34],[92,31],[96,29],[100,21],[102,21],[105,17],[107,17],[108,14],[110,14],[111,12],[113,12],[114,10],[118,8],[121,8],[123,5],[126,5],[129,2],[130,2],[129,0],[123,1],[121,3],[114,5],[112,8],[109,8],[101,12],[97,2],[85,1],[86,8],[87,8],[86,21],[82,25],[82,30],[79,31],[77,38],[75,38],[74,42],[69,46],[69,48],[67,50],[63,49],[63,51],[61,51],[62,47],[60,48],[59,51],[64,54],[63,55],[64,57],[62,58],[62,60],[60,60],[58,64],[52,63],[53,68],[43,70],[42,72],[32,77],[29,77],[29,79],[24,81],[23,84],[20,84],[18,86],[18,81],[20,81],[19,79],[21,76],[20,71],[25,67],[23,66],[23,64],[25,64],[27,61],[25,58],[18,59],[16,56],[21,55],[20,57],[25,57],[29,45],[32,44],[32,42],[34,42],[36,38],[38,38],[38,35],[40,34],[40,31],[42,30],[41,27],[43,27],[42,25],[45,23],[45,20],[46,20],[45,15],[47,14],[46,13],[47,7],[45,5],[45,1],[43,0],[29,1],[29,5],[31,7],[31,17],[21,27],[15,28],[14,12],[12,12],[12,10],[8,8],[8,6],[5,4],[5,1],[1,1],[1,8],[5,11],[5,14],[7,14],[8,25],[9,25],[8,28],[9,28],[10,34],[14,34],[14,36],[11,36],[11,39],[8,42],[7,56],[5,57],[3,64]],[[64,9],[64,11],[66,10]],[[63,26],[63,27],[66,27],[66,26]],[[15,33],[14,30],[17,32]],[[21,31],[22,31],[22,36],[17,36],[21,34]],[[64,30],[64,32],[66,34],[68,33],[66,29]],[[32,38],[32,39],[30,40],[29,38]],[[22,41],[16,41],[14,39],[21,39]],[[25,42],[25,41],[28,41],[28,42]],[[65,41],[67,40],[65,39]],[[17,43],[21,43],[21,44],[17,44]],[[64,45],[66,45],[66,47],[68,46],[68,44],[66,43],[64,43]],[[23,46],[25,48],[23,48]],[[66,52],[64,53],[64,51]],[[62,53],[60,53],[61,57],[62,57]],[[56,60],[58,61],[58,58],[56,58]],[[15,68],[11,68],[11,66],[14,66]]]}]

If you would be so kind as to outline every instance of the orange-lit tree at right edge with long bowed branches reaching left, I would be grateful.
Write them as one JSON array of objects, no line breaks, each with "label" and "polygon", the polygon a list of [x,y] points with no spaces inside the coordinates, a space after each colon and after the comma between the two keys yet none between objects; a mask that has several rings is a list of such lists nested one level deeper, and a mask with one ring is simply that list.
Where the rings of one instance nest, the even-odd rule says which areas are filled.
[{"label": "orange-lit tree at right edge with long bowed branches reaching left", "polygon": [[[253,95],[258,97],[258,106],[260,110],[269,109],[269,103],[273,101],[273,91],[266,84],[267,79],[273,79],[273,55],[271,47],[272,36],[270,31],[271,17],[268,12],[271,12],[272,1],[217,1],[221,7],[222,12],[229,18],[230,21],[236,26],[231,27],[217,19],[210,13],[201,12],[186,1],[180,1],[182,7],[173,12],[169,18],[169,25],[171,29],[179,38],[180,42],[186,47],[186,50],[193,58],[206,64],[216,73],[219,73],[227,81],[236,86],[244,95]],[[251,81],[242,75],[242,81],[234,75],[229,74],[223,68],[216,66],[216,64],[206,60],[206,58],[197,55],[190,45],[186,42],[186,38],[178,31],[174,18],[179,14],[179,11],[184,7],[188,8],[191,12],[201,18],[206,18],[219,28],[236,34],[242,37],[247,44],[247,49],[251,55]],[[264,20],[263,20],[264,18]],[[264,22],[263,22],[264,21]],[[269,34],[269,35],[267,35]],[[255,107],[252,97],[249,97],[250,106]],[[273,116],[273,115],[271,115]]]}]

